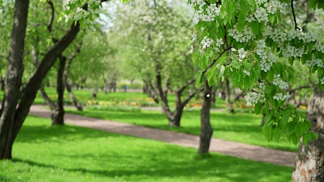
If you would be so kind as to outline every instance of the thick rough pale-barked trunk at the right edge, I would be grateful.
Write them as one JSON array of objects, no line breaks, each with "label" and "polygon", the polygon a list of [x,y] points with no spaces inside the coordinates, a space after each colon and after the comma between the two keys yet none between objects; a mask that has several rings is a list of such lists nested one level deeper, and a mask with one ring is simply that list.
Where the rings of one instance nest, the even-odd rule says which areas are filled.
[{"label": "thick rough pale-barked trunk at the right edge", "polygon": [[[324,90],[315,86],[308,103],[307,119],[312,129],[324,132]],[[302,140],[296,157],[293,181],[324,181],[324,135],[318,134],[318,140],[306,146]]]}]

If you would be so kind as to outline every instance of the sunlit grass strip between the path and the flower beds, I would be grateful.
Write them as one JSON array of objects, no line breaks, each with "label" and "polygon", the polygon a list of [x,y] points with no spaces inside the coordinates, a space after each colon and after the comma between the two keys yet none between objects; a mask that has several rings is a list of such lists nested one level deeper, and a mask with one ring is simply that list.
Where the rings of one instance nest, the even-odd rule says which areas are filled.
[{"label": "sunlit grass strip between the path and the flower beds", "polygon": [[[86,109],[84,112],[68,111],[89,117],[102,118],[113,121],[126,122],[148,127],[200,134],[200,113],[184,112],[181,127],[168,126],[164,113],[154,111],[141,112],[113,112]],[[280,150],[296,152],[298,147],[282,136],[279,142],[266,142],[260,126],[261,116],[250,113],[229,114],[225,112],[211,112],[211,124],[214,129],[213,137],[228,141],[241,142]]]}]

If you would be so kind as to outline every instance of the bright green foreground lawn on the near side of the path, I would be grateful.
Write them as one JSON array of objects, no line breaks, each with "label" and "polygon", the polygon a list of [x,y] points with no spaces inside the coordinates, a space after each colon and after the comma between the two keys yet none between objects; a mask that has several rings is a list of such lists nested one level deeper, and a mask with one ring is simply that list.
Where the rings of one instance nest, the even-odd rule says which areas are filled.
[{"label": "bright green foreground lawn on the near side of the path", "polygon": [[28,116],[0,181],[290,181],[293,168]]}]

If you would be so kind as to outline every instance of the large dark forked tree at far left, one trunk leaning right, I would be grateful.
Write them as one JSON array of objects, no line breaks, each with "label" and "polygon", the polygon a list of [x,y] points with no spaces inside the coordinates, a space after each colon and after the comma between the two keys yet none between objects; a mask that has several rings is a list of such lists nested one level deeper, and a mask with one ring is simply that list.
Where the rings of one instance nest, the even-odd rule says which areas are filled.
[{"label": "large dark forked tree at far left, one trunk leaning right", "polygon": [[[0,117],[0,159],[12,158],[11,152],[14,140],[47,72],[53,66],[55,60],[76,37],[80,30],[80,23],[93,21],[99,16],[94,10],[98,9],[101,2],[104,1],[105,0],[93,1],[89,6],[87,3],[79,1],[75,2],[76,4],[73,5],[68,2],[66,6],[69,6],[70,9],[65,13],[68,14],[67,17],[73,19],[73,23],[64,33],[64,36],[58,39],[53,47],[46,52],[36,71],[24,87],[21,97],[20,87],[22,85],[23,53],[29,1],[15,1],[14,24],[5,80],[5,96]],[[80,8],[80,4],[82,8]],[[21,99],[17,107],[19,98]]]}]

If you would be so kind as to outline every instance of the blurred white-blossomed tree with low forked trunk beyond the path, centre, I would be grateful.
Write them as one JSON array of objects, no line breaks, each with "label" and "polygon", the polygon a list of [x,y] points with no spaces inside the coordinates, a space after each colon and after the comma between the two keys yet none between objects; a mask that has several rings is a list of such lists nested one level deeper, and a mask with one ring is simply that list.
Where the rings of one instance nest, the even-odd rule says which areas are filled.
[{"label": "blurred white-blossomed tree with low forked trunk beyond the path, centre", "polygon": [[[181,2],[170,5],[164,0],[139,0],[120,7],[116,18],[116,29],[128,36],[131,49],[140,55],[137,65],[141,67],[143,80],[151,91],[157,90],[169,125],[176,127],[180,126],[185,105],[196,93],[191,85],[195,80],[191,74],[194,70],[192,65],[188,66],[192,64],[188,62],[187,49],[191,43],[184,41],[190,36],[187,27],[191,20],[187,12],[188,8]],[[176,96],[175,110],[168,103],[171,89]]]}]

